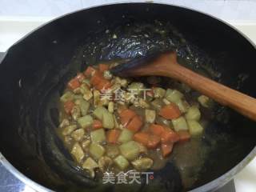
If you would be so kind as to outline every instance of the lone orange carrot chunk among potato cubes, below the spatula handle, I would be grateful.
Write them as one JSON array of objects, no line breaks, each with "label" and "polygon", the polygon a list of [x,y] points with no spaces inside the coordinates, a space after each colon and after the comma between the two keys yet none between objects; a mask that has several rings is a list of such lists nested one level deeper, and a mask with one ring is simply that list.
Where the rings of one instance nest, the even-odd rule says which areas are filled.
[{"label": "lone orange carrot chunk among potato cubes, below the spatula handle", "polygon": [[159,114],[166,119],[174,119],[181,116],[181,111],[178,109],[178,106],[174,103],[163,106]]}]

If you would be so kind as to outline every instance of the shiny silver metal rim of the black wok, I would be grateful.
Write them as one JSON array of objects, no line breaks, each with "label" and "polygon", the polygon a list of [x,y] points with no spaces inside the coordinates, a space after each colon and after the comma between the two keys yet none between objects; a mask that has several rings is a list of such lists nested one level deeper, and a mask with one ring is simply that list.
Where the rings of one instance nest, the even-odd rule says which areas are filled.
[{"label": "shiny silver metal rim of the black wok", "polygon": [[[254,50],[256,50],[255,43],[249,37],[247,37],[246,34],[243,34],[242,31],[240,31],[237,28],[235,28],[234,26],[230,25],[230,23],[222,20],[221,18],[217,18],[214,15],[208,14],[208,13],[203,12],[201,10],[195,10],[194,8],[190,8],[190,7],[187,7],[187,6],[174,5],[173,3],[168,3],[168,2],[164,3],[164,2],[129,1],[129,2],[103,3],[103,4],[97,5],[97,6],[89,6],[89,7],[86,7],[86,8],[79,9],[79,10],[71,11],[70,13],[63,14],[63,15],[58,16],[58,17],[53,18],[53,19],[50,19],[50,21],[45,22],[42,25],[36,27],[34,30],[31,30],[30,33],[28,33],[24,37],[20,38],[17,42],[14,42],[14,44],[12,46],[10,46],[10,48],[8,48],[6,50],[6,52],[4,53],[2,61],[0,61],[0,65],[6,59],[6,55],[12,50],[12,48],[14,46],[18,45],[18,43],[22,42],[24,39],[29,37],[30,34],[34,34],[36,31],[40,30],[42,27],[44,27],[46,25],[49,25],[50,23],[55,22],[58,19],[68,17],[68,16],[70,16],[72,14],[76,14],[76,13],[82,12],[84,10],[100,8],[102,6],[129,5],[129,4],[142,4],[142,5],[155,4],[155,5],[162,5],[162,6],[173,6],[173,7],[178,7],[178,8],[182,8],[182,9],[185,9],[185,10],[190,10],[190,11],[192,10],[193,12],[197,12],[198,14],[204,14],[204,15],[210,17],[210,18],[214,18],[214,19],[218,20],[218,22],[221,22],[222,24],[224,24],[226,26],[229,26],[236,33],[240,34],[242,36],[242,38],[245,38],[246,41],[249,42],[250,45],[254,47]],[[189,190],[189,192],[201,192],[201,191],[214,191],[214,190],[218,190],[222,186],[225,186],[227,182],[230,182],[230,180],[232,180],[234,178],[234,176],[236,174],[238,174],[238,172],[240,172],[246,165],[248,165],[249,162],[251,162],[255,157],[256,157],[256,146],[254,146],[254,149],[251,150],[250,153],[247,154],[246,157],[243,158],[242,161],[239,162],[236,166],[234,166],[231,170],[228,170],[225,174],[222,174],[220,177],[215,178],[211,182],[207,182],[206,184],[204,184],[202,186],[198,186],[197,188],[194,188],[193,190]],[[6,170],[9,170],[11,174],[13,174],[20,181],[22,181],[25,185],[30,186],[33,190],[37,190],[38,192],[45,192],[45,191],[54,192],[54,190],[50,190],[46,186],[42,186],[38,182],[34,182],[34,180],[32,180],[31,178],[28,178],[25,174],[22,174],[22,172],[20,172],[18,169],[16,169],[4,157],[4,155],[1,153],[1,151],[0,151],[0,162],[2,163],[2,166],[4,166],[6,168]]]}]

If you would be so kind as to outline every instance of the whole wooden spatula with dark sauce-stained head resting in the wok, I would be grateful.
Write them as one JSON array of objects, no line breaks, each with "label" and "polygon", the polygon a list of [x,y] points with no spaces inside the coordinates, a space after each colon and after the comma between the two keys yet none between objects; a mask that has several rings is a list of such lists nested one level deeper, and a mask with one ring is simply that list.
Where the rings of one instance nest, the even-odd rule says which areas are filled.
[{"label": "whole wooden spatula with dark sauce-stained head resting in the wok", "polygon": [[214,99],[223,106],[238,111],[238,113],[256,121],[256,99],[237,90],[232,90],[209,78],[196,74],[194,71],[181,66],[174,52],[151,54],[146,58],[137,58],[122,65],[115,66],[111,72],[121,77],[138,77],[158,75],[174,78],[186,83],[194,90]]}]

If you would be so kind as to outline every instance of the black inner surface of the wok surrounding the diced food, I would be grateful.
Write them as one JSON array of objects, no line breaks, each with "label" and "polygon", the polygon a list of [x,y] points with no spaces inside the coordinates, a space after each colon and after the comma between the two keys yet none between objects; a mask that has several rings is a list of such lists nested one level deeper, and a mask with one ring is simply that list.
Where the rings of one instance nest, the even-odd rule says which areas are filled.
[{"label": "black inner surface of the wok surrounding the diced food", "polygon": [[[154,34],[154,29],[162,27],[170,31],[167,35],[170,38]],[[150,38],[142,34],[145,31]],[[111,38],[113,33],[117,39]],[[138,36],[128,38],[130,34]],[[53,190],[118,190],[122,186],[102,187],[74,165],[54,130],[58,126],[58,97],[67,80],[86,65],[134,58],[159,49],[177,50],[180,62],[186,66],[256,96],[254,47],[214,18],[157,4],[120,4],[82,10],[51,22],[18,42],[0,65],[2,154],[23,174]],[[209,67],[213,70],[207,70]],[[254,122],[230,110],[220,110],[217,114],[222,120],[210,122],[199,146],[187,143],[178,147],[176,154],[183,157],[174,153],[174,161],[155,173],[162,181],[156,182],[156,187],[161,186],[162,191],[194,189],[226,173],[249,154],[256,144]],[[193,147],[203,161],[191,159],[186,161],[190,165],[182,164],[182,159],[195,157],[190,155]],[[200,167],[197,163],[193,165],[199,161]],[[200,168],[189,172],[194,174],[190,175],[193,181],[182,181],[184,175],[177,162],[186,169]],[[154,186],[129,187],[154,190]]]}]

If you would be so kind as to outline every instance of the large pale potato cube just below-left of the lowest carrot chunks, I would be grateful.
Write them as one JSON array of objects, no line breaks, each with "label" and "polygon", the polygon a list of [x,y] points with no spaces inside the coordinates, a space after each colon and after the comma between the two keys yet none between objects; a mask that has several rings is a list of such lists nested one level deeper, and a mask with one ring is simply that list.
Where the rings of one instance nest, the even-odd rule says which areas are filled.
[{"label": "large pale potato cube just below-left of the lowest carrot chunks", "polygon": [[139,154],[138,143],[134,141],[123,143],[119,146],[119,150],[121,154],[130,161],[137,158]]}]

